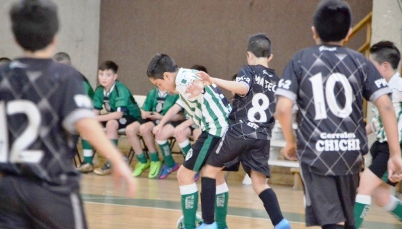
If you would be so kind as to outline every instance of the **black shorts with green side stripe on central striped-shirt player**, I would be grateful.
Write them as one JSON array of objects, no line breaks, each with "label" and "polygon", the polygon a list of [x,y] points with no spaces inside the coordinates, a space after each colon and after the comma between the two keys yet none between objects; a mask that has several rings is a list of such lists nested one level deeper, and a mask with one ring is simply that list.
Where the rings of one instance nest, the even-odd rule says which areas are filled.
[{"label": "black shorts with green side stripe on central striped-shirt player", "polygon": [[221,137],[203,131],[191,145],[191,149],[183,161],[183,166],[193,171],[199,171],[220,139]]}]

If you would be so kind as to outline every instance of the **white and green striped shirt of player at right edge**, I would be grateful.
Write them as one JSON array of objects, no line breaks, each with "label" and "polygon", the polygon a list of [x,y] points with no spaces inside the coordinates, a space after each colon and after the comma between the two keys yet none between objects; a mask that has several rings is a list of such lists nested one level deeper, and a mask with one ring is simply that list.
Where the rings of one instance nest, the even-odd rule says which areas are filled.
[{"label": "white and green striped shirt of player at right edge", "polygon": [[[399,72],[396,72],[389,79],[388,87],[392,91],[391,101],[398,123],[399,142],[402,142],[402,78],[400,78]],[[386,142],[387,138],[378,109],[373,106],[372,111],[374,112],[374,117],[371,120],[371,128],[375,133],[375,138],[379,142]]]}]

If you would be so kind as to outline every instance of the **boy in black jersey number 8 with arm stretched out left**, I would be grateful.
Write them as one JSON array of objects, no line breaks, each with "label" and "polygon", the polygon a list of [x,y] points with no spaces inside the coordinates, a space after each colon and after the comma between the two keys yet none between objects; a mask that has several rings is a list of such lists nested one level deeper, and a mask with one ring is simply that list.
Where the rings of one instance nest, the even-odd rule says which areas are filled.
[{"label": "boy in black jersey number 8 with arm stretched out left", "polygon": [[206,224],[214,222],[215,183],[219,182],[216,180],[218,172],[223,167],[230,167],[240,161],[250,175],[253,189],[261,198],[274,228],[290,228],[288,221],[282,216],[275,192],[266,183],[266,178],[270,177],[269,139],[275,122],[274,92],[279,81],[275,71],[268,67],[271,59],[269,38],[265,34],[255,34],[248,42],[248,65],[240,69],[236,81],[212,78],[204,72],[198,74],[208,83],[236,93],[233,110],[229,115],[229,129],[217,144],[215,153],[209,155],[202,171],[201,203]]}]

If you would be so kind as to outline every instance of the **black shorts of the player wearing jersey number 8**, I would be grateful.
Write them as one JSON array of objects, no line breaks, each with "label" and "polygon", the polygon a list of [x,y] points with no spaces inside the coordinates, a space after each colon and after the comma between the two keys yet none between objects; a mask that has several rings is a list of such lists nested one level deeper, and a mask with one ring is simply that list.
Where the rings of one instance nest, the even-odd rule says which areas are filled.
[{"label": "black shorts of the player wearing jersey number 8", "polygon": [[246,140],[229,129],[208,157],[207,164],[216,167],[225,165],[230,169],[233,168],[232,166],[236,166],[236,163],[241,162],[247,174],[250,175],[250,171],[254,170],[270,177],[269,146],[269,140]]}]

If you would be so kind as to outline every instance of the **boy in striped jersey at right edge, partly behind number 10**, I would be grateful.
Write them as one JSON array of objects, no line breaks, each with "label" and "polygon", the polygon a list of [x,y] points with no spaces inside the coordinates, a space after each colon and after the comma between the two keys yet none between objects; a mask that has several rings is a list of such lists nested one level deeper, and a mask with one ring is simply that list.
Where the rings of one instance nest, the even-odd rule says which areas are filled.
[{"label": "boy in striped jersey at right edge, partly behind number 10", "polygon": [[[399,50],[392,42],[381,41],[371,46],[369,59],[391,89],[391,101],[398,125],[399,144],[402,146],[402,79],[397,70],[400,60]],[[373,160],[371,165],[364,169],[360,177],[354,206],[355,228],[359,228],[363,222],[370,207],[371,199],[376,205],[402,221],[402,203],[398,198],[391,195],[391,188],[397,182],[391,182],[388,179],[388,139],[378,109],[373,107],[373,111],[374,117],[366,125],[367,134],[375,134],[375,142],[370,148]]]}]

